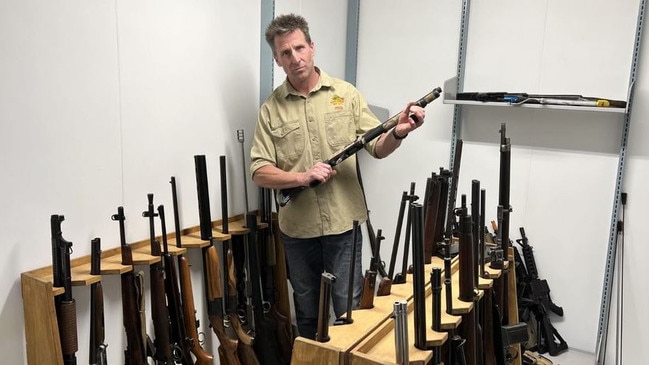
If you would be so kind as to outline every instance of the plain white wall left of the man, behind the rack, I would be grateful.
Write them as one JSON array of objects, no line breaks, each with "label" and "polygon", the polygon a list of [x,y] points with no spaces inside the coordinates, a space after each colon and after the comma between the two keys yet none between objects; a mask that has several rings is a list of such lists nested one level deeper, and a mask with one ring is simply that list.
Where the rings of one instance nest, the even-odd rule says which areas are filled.
[{"label": "plain white wall left of the man, behind the rack", "polygon": [[[176,176],[182,224],[198,225],[195,154],[207,155],[213,219],[221,215],[223,154],[230,212],[243,212],[235,131],[245,130],[248,150],[259,105],[259,22],[258,2],[0,2],[4,363],[26,363],[19,278],[51,264],[51,214],[65,215],[73,258],[90,253],[93,237],[104,248],[119,245],[110,220],[119,205],[127,239],[139,241],[148,237],[141,216],[146,194],[171,211],[169,178]],[[257,194],[249,195],[254,206]],[[206,317],[200,270],[194,266],[196,305]],[[108,361],[119,363],[125,346],[119,279],[104,277],[104,290]],[[73,295],[77,356],[86,361],[88,289],[75,287]],[[207,318],[201,323],[209,331]],[[207,336],[208,348],[215,349],[213,337]]]}]

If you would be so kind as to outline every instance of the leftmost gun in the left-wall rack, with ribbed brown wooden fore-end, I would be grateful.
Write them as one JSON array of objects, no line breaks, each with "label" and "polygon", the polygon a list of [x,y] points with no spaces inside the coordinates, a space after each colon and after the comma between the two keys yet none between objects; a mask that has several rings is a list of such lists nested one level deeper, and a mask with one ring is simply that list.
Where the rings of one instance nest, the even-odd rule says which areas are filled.
[{"label": "leftmost gun in the left-wall rack, with ribbed brown wooden fore-end", "polygon": [[57,214],[52,215],[50,219],[54,286],[65,289],[63,294],[54,297],[54,306],[59,323],[63,363],[65,365],[76,365],[77,357],[75,353],[79,346],[77,342],[77,305],[74,298],[72,298],[72,274],[70,273],[72,242],[63,238],[61,232],[61,222],[63,220],[65,220],[65,217]]}]

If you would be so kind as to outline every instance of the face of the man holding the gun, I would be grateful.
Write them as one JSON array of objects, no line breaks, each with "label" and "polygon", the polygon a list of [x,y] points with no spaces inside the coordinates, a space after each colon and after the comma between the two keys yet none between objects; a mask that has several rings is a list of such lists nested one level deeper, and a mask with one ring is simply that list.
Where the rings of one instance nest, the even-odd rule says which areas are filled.
[{"label": "face of the man holding the gun", "polygon": [[308,43],[301,30],[275,37],[275,62],[291,82],[304,82],[314,71],[313,42]]}]

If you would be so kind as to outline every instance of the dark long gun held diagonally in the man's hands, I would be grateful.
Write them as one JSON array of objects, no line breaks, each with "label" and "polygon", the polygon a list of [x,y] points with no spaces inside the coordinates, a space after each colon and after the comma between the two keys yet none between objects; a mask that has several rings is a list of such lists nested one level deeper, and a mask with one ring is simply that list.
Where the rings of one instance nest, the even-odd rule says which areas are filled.
[{"label": "dark long gun held diagonally in the man's hands", "polygon": [[[415,105],[420,106],[422,108],[426,107],[429,103],[437,99],[442,92],[442,89],[439,87],[436,87],[431,91],[430,93],[426,94],[423,98],[417,100],[415,102]],[[342,150],[331,156],[327,161],[324,161],[324,163],[329,164],[331,167],[336,167],[338,164],[341,162],[345,161],[347,158],[353,156],[356,152],[360,151],[365,147],[365,145],[374,140],[375,138],[379,137],[381,134],[389,131],[392,129],[394,126],[397,125],[399,122],[399,115],[401,113],[397,113],[394,116],[392,116],[390,119],[387,121],[379,124],[378,126],[372,128],[371,130],[367,131],[365,134],[362,136],[356,138],[356,140],[347,146],[345,146]],[[411,116],[411,118],[414,118]],[[310,187],[315,187],[320,185],[319,180],[313,180],[309,184]],[[282,189],[279,192],[278,200],[279,200],[279,205],[280,206],[285,206],[288,204],[288,202],[293,199],[297,194],[300,193],[300,191],[304,190],[304,186],[298,186],[294,188],[289,188],[289,189]]]}]

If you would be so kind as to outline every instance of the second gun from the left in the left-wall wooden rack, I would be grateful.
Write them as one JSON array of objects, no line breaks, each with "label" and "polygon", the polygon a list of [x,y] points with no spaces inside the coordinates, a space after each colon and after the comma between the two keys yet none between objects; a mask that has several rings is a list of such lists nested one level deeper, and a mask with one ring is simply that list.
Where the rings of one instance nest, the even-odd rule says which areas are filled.
[{"label": "second gun from the left in the left-wall wooden rack", "polygon": [[[101,275],[101,240],[93,238],[90,244],[90,275]],[[104,339],[104,289],[98,281],[90,285],[90,365],[107,364]]]}]

